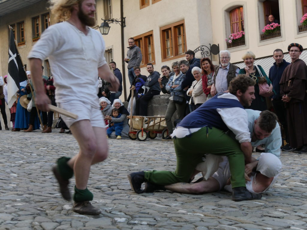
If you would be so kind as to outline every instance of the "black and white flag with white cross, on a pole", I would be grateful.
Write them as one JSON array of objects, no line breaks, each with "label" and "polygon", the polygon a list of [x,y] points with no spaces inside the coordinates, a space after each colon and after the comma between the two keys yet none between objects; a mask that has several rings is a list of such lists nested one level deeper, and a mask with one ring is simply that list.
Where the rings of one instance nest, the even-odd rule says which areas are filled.
[{"label": "black and white flag with white cross, on a pole", "polygon": [[7,100],[9,108],[16,101],[16,92],[20,88],[20,82],[26,81],[27,75],[23,68],[15,41],[13,31],[10,29],[9,67],[7,75]]}]

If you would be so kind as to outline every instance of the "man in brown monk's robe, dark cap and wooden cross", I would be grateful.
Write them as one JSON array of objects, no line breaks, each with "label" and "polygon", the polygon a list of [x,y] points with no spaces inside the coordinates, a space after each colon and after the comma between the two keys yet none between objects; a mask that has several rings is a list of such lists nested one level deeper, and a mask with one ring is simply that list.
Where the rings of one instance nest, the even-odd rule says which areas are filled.
[{"label": "man in brown monk's robe, dark cap and wooden cross", "polygon": [[293,152],[307,154],[307,66],[299,59],[303,47],[297,43],[288,46],[291,64],[282,74],[280,95],[285,102],[290,146]]}]

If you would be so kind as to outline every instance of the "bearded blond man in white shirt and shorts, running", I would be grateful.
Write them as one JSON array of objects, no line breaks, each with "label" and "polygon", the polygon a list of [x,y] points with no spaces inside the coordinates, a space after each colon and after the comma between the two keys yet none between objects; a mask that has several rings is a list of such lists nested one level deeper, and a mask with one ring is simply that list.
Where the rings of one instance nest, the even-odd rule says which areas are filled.
[{"label": "bearded blond man in white shirt and shorts, running", "polygon": [[36,105],[48,111],[50,100],[41,81],[41,65],[49,59],[57,106],[78,115],[72,119],[61,115],[75,136],[80,151],[72,158],[61,157],[53,173],[64,199],[70,200],[69,179],[75,174],[73,210],[97,215],[100,209],[91,205],[93,194],[87,189],[92,164],[107,158],[107,140],[103,115],[98,106],[98,79],[110,82],[117,91],[119,81],[110,71],[104,52],[105,43],[95,24],[95,0],[58,0],[52,3],[54,20],[67,20],[50,26],[29,53],[29,63],[36,90]]}]

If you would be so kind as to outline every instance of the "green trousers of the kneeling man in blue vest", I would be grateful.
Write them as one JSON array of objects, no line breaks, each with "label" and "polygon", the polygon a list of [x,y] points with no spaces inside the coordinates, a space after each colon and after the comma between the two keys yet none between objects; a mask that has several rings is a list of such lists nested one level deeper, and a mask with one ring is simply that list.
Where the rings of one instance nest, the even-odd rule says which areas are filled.
[{"label": "green trousers of the kneeling man in blue vest", "polygon": [[245,187],[244,155],[240,144],[222,130],[204,127],[184,138],[175,138],[174,146],[176,171],[146,171],[145,182],[157,185],[188,182],[204,154],[213,154],[228,157],[232,188]]}]

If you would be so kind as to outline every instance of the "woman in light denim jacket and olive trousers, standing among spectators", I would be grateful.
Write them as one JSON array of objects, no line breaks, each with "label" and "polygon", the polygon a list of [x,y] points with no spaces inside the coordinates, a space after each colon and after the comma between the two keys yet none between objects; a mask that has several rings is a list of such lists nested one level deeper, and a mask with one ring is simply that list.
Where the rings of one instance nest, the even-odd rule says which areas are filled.
[{"label": "woman in light denim jacket and olive trousers, standing among spectators", "polygon": [[[173,76],[169,78],[169,82],[167,82],[165,89],[170,92],[169,104],[165,113],[165,122],[168,129],[168,136],[162,140],[172,140],[170,134],[173,133],[173,123],[171,121],[173,114],[177,110],[178,118],[183,119],[183,114],[185,111],[185,98],[184,91],[181,87],[181,83],[185,79],[185,75],[180,71],[179,63],[173,62],[172,64],[173,72],[175,73]],[[180,96],[183,99],[182,103],[176,103],[174,101],[174,96]]]}]

